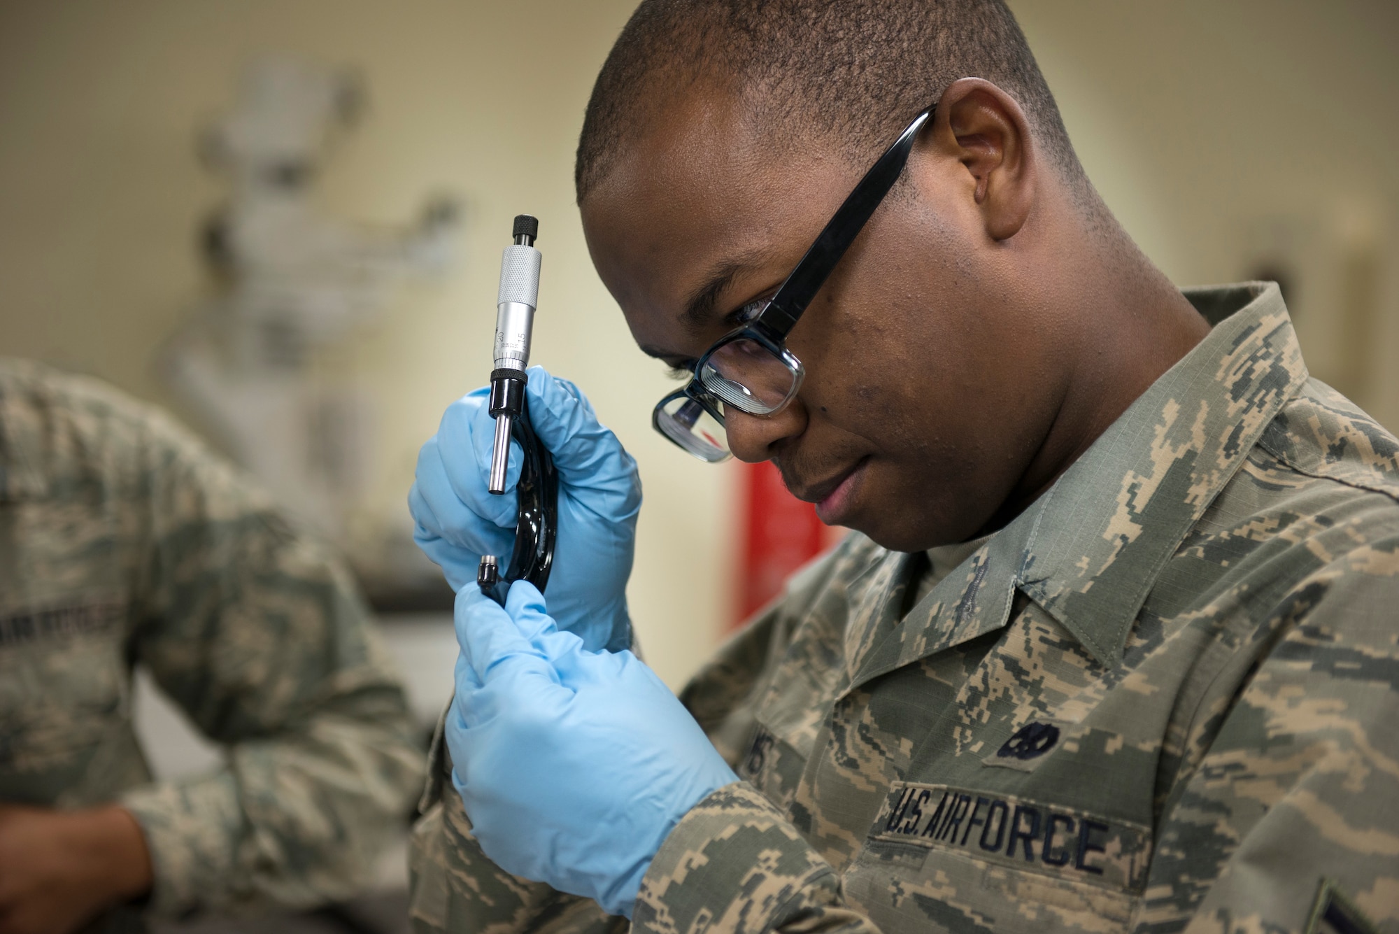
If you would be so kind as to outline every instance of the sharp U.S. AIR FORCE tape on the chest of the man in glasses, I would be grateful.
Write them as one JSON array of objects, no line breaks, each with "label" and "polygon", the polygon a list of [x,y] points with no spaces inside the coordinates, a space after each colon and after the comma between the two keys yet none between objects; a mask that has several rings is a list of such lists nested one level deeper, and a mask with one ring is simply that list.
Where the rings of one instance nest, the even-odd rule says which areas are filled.
[{"label": "sharp U.S. AIR FORCE tape on the chest of the man in glasses", "polygon": [[1151,832],[1083,811],[946,784],[895,782],[870,839],[961,852],[1002,865],[1139,889]]}]

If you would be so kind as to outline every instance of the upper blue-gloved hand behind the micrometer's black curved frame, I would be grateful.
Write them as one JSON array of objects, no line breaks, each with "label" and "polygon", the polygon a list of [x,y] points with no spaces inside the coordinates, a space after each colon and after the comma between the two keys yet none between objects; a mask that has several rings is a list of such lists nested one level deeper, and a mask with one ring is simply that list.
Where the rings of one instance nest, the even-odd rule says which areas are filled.
[{"label": "upper blue-gloved hand behind the micrometer's black curved frame", "polygon": [[[637,461],[568,380],[532,366],[525,391],[534,433],[558,470],[548,604],[558,626],[578,633],[589,649],[625,649],[631,645],[627,579],[641,510]],[[485,487],[495,419],[488,396],[490,389],[478,389],[448,405],[438,433],[418,452],[409,492],[417,523],[413,537],[456,591],[476,586],[483,554],[498,555],[504,573],[515,544],[520,447],[511,442],[505,495],[491,495]]]}]

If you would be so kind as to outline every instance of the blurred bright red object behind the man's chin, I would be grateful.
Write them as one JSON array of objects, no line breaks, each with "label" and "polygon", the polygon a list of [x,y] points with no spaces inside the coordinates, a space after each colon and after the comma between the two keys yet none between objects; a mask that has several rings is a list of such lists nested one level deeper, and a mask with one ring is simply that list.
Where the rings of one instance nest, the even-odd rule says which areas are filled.
[{"label": "blurred bright red object behind the man's chin", "polygon": [[739,464],[743,471],[743,551],[739,568],[739,617],[744,622],[778,596],[793,570],[844,533],[816,517],[816,506],[788,492],[769,461]]}]

